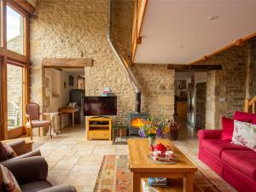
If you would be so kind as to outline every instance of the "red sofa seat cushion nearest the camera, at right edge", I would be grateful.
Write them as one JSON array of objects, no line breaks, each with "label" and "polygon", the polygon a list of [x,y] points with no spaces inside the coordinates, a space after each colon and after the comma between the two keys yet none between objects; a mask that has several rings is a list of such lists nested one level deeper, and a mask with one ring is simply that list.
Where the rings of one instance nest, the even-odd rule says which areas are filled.
[{"label": "red sofa seat cushion nearest the camera, at right edge", "polygon": [[221,160],[256,181],[256,152],[226,150],[222,152]]}]

